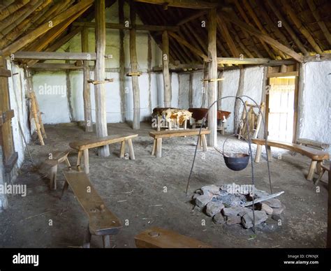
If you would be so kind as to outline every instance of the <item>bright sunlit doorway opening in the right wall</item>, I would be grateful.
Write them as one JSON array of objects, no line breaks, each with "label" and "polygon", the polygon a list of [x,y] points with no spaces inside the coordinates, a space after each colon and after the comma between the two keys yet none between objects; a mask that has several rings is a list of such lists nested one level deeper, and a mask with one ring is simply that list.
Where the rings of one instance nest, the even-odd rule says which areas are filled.
[{"label": "bright sunlit doorway opening in the right wall", "polygon": [[295,137],[296,77],[269,78],[267,95],[268,139],[293,142]]}]

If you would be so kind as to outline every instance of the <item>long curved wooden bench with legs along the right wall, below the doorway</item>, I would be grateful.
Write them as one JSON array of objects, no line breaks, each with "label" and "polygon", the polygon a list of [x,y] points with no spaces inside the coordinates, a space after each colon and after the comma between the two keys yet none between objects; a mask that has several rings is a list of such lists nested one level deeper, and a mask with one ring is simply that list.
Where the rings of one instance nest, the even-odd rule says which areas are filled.
[{"label": "long curved wooden bench with legs along the right wall, below the doorway", "polygon": [[[253,143],[255,143],[256,145],[258,145],[256,148],[256,156],[255,156],[255,161],[256,161],[256,163],[258,163],[260,161],[262,146],[265,145],[265,140],[264,139],[252,139],[251,141]],[[268,156],[270,158],[272,157],[270,147],[288,149],[291,152],[297,152],[304,156],[309,157],[311,159],[311,164],[309,166],[309,172],[307,175],[307,180],[309,180],[309,181],[313,180],[316,167],[321,168],[321,166],[323,164],[323,160],[329,159],[328,152],[323,152],[318,149],[314,149],[311,147],[306,147],[306,146],[302,146],[302,145],[298,145],[298,144],[288,143],[288,142],[267,140],[267,151],[268,151]]]}]

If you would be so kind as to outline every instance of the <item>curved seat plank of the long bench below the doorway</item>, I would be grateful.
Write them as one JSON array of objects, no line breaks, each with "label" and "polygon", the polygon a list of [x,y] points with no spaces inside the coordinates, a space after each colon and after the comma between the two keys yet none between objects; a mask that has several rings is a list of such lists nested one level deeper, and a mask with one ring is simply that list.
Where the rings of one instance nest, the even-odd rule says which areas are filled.
[{"label": "curved seat plank of the long bench below the doorway", "polygon": [[[257,145],[265,145],[264,139],[256,139],[253,138],[251,140],[254,144]],[[304,156],[308,156],[312,160],[320,161],[320,160],[328,160],[329,159],[329,153],[323,152],[319,149],[314,149],[311,147],[306,147],[294,143],[289,142],[281,142],[276,140],[267,140],[267,145],[270,147],[279,147],[281,149],[288,149],[291,152],[298,152]]]}]

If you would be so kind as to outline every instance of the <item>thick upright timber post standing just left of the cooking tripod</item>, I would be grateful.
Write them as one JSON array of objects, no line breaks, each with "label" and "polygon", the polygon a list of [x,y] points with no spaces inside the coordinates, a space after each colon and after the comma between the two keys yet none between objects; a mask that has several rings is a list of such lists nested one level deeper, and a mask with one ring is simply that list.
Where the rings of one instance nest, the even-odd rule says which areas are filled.
[{"label": "thick upright timber post standing just left of the cooking tripod", "polygon": [[[217,78],[217,54],[216,54],[216,9],[208,12],[208,74],[209,80]],[[208,107],[217,99],[217,81],[208,84]],[[208,113],[208,145],[217,145],[217,103],[214,103]]]}]

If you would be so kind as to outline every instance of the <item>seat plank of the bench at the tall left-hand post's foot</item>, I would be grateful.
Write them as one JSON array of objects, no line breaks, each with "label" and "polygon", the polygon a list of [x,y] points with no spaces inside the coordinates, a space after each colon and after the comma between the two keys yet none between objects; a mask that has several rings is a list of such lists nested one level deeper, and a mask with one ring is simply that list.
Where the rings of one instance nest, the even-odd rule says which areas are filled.
[{"label": "seat plank of the bench at the tall left-hand post's foot", "polygon": [[73,149],[77,149],[78,151],[82,151],[84,149],[91,149],[117,142],[122,142],[124,140],[136,138],[137,136],[138,134],[136,133],[128,133],[126,135],[112,135],[112,136],[106,136],[104,138],[92,138],[90,140],[80,140],[80,141],[70,142],[69,146],[72,147]]}]

